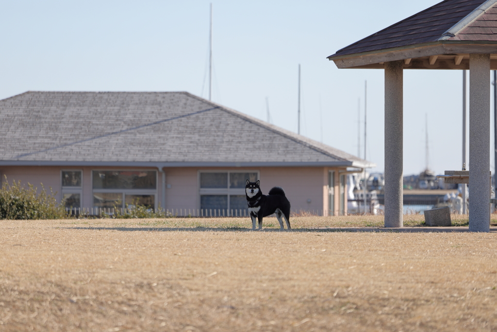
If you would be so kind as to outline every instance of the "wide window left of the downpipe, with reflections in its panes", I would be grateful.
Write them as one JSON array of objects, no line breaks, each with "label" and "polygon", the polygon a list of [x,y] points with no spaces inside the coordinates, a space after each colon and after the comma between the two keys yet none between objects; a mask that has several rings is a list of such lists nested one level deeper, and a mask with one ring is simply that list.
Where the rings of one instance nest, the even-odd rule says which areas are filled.
[{"label": "wide window left of the downpipe, with reflections in its panes", "polygon": [[91,175],[93,207],[157,208],[157,171],[94,170]]}]

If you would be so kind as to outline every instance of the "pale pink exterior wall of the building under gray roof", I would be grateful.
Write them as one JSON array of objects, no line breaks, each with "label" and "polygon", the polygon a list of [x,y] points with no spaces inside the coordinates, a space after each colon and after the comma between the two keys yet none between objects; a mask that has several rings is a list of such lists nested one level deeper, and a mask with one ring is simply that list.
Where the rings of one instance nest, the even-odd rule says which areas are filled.
[{"label": "pale pink exterior wall of the building under gray roof", "polygon": [[[4,175],[11,183],[20,180],[23,185],[28,183],[41,190],[41,183],[48,190],[57,192],[56,199],[61,200],[62,170],[83,171],[82,207],[91,208],[93,202],[91,172],[92,170],[157,170],[157,168],[133,167],[55,167],[55,166],[8,166],[0,167],[1,182]],[[199,172],[201,171],[234,171],[258,172],[263,194],[275,186],[282,187],[292,206],[292,211],[314,211],[322,215],[328,212],[328,171],[335,170],[335,214],[339,206],[339,169],[324,167],[254,167],[254,168],[165,168],[166,174],[166,206],[165,209],[199,209]],[[162,174],[157,172],[156,205],[162,202]],[[346,203],[345,203],[346,207]]]}]

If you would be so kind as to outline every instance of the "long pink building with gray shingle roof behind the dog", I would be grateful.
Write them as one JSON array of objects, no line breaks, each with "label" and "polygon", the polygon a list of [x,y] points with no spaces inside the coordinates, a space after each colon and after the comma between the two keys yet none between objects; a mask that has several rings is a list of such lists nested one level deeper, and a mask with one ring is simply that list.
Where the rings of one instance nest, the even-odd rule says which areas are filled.
[{"label": "long pink building with gray shingle roof behind the dog", "polygon": [[292,211],[346,214],[345,172],[374,164],[185,92],[26,92],[0,101],[0,175],[73,208],[240,211],[245,181]]}]

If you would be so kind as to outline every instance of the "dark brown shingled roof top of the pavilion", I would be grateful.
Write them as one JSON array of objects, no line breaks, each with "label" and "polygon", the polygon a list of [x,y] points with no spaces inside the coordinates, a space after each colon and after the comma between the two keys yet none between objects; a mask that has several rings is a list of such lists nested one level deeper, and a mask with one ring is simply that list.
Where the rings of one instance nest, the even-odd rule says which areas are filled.
[{"label": "dark brown shingled roof top of the pavilion", "polygon": [[[445,0],[338,50],[329,58],[440,40],[485,0]],[[491,8],[447,40],[497,40],[497,10]]]}]

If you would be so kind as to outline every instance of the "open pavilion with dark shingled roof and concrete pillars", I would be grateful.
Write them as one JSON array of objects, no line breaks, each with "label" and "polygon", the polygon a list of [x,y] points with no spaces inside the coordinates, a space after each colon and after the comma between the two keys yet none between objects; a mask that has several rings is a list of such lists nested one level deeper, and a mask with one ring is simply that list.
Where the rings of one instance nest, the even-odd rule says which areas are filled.
[{"label": "open pavilion with dark shingled roof and concrete pillars", "polygon": [[497,0],[445,0],[328,57],[338,68],[385,70],[385,227],[403,226],[403,70],[470,71],[469,230],[490,231],[490,70]]}]

